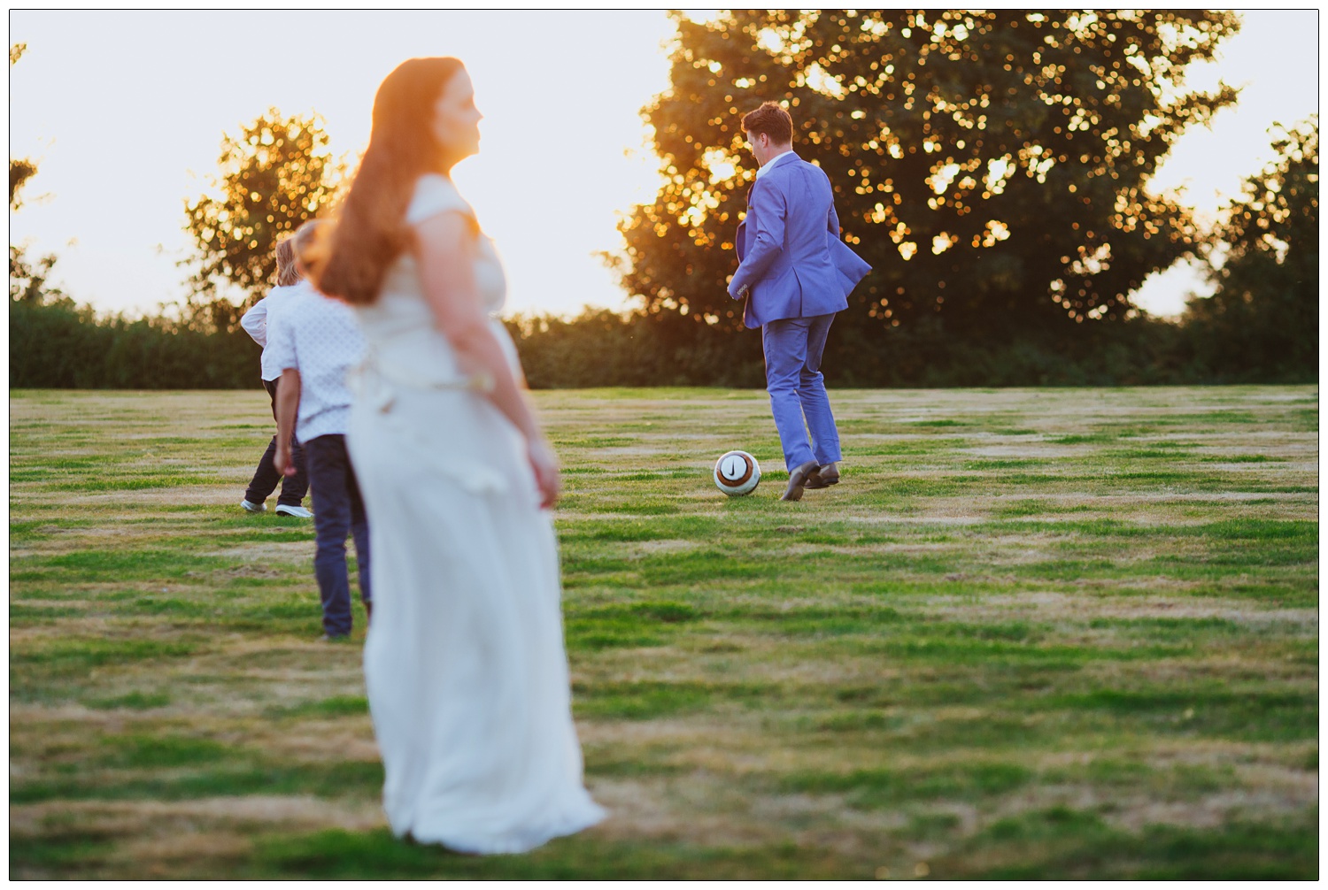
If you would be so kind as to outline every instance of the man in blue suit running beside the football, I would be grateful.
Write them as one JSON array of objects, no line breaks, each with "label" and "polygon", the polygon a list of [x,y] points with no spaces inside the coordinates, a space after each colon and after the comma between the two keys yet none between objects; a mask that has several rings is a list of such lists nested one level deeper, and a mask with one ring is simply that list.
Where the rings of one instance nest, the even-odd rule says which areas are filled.
[{"label": "man in blue suit running beside the football", "polygon": [[781,500],[799,500],[803,488],[839,481],[839,431],[821,353],[834,314],[849,308],[849,293],[871,267],[839,240],[830,178],[793,154],[789,113],[765,102],[742,118],[742,131],[761,168],[738,225],[729,296],[745,298],[742,322],[761,328],[765,389],[789,470]]}]

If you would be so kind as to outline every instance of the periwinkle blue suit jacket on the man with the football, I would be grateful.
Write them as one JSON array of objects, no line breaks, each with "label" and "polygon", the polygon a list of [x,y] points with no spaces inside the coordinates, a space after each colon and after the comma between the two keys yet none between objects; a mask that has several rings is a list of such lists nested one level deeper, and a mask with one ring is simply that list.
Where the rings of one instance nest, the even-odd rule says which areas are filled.
[{"label": "periwinkle blue suit jacket on the man with the football", "polygon": [[781,155],[748,192],[729,294],[748,297],[742,322],[825,316],[849,308],[871,267],[839,239],[834,191],[821,167]]}]

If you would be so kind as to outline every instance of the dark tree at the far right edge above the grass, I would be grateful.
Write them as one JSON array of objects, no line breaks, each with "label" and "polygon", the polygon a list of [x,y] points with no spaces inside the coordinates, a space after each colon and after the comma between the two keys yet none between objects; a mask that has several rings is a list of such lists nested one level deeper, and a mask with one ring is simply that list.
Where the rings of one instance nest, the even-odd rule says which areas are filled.
[{"label": "dark tree at the far right edge above the grass", "polygon": [[1272,133],[1275,159],[1244,182],[1206,245],[1216,290],[1186,309],[1197,358],[1216,379],[1319,373],[1319,117]]}]

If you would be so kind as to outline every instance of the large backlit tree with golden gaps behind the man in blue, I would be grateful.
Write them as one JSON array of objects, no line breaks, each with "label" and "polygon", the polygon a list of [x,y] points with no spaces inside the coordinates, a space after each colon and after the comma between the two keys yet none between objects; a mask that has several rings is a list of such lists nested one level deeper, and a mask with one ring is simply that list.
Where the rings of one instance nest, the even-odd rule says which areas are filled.
[{"label": "large backlit tree with golden gaps behind the man in blue", "polygon": [[1191,252],[1146,191],[1177,135],[1235,98],[1187,92],[1235,16],[1202,11],[823,11],[679,16],[672,88],[644,110],[667,183],[623,222],[620,269],[652,313],[738,324],[725,294],[756,162],[741,114],[785,103],[874,272],[850,324],[943,317],[1056,328],[1123,317]]}]

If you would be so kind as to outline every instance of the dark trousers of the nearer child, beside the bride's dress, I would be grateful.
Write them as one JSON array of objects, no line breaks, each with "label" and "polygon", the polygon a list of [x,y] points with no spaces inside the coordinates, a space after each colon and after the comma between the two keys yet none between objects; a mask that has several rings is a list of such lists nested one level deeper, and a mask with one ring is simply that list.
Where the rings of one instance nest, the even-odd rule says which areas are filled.
[{"label": "dark trousers of the nearer child, beside the bride's dress", "polygon": [[351,633],[351,581],[345,568],[345,539],[355,537],[360,568],[360,600],[369,592],[369,521],[355,480],[344,435],[317,436],[304,443],[313,485],[313,577],[323,600],[323,630],[328,637]]}]

